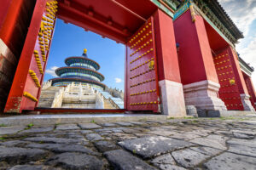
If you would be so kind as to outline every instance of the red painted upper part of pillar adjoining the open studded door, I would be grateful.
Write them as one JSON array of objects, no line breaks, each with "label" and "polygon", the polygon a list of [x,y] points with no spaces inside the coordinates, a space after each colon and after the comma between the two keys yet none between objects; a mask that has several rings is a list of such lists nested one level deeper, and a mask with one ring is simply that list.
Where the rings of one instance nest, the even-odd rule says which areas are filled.
[{"label": "red painted upper part of pillar adjoining the open studded door", "polygon": [[181,82],[172,18],[160,9],[154,14],[159,81]]}]

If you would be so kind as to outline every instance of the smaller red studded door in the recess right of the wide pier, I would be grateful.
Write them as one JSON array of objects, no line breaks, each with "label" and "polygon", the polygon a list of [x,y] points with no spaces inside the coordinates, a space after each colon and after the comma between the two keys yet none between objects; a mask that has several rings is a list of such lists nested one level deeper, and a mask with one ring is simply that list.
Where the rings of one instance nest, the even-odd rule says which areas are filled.
[{"label": "smaller red studded door in the recess right of the wide pier", "polygon": [[224,101],[228,110],[243,111],[236,76],[230,62],[228,50],[224,50],[224,52],[216,55],[213,60],[220,84],[218,91],[219,98]]}]

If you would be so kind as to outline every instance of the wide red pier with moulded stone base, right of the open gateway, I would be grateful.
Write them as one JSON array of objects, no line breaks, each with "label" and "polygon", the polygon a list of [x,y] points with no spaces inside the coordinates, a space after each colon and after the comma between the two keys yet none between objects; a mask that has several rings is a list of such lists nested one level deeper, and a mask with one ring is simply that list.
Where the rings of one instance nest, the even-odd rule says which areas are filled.
[{"label": "wide red pier with moulded stone base, right of the open gateway", "polygon": [[218,98],[218,77],[212,59],[204,19],[196,15],[192,21],[190,10],[174,21],[179,43],[179,65],[186,105],[203,110],[226,110]]}]

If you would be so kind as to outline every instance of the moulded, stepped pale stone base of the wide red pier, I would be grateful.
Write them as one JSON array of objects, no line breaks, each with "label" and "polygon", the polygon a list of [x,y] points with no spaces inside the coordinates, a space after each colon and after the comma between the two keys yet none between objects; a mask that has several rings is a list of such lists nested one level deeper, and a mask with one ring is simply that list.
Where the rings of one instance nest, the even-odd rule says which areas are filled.
[{"label": "moulded, stepped pale stone base of the wide red pier", "polygon": [[220,85],[208,80],[183,86],[186,105],[195,105],[201,110],[226,111],[224,102],[218,98]]}]

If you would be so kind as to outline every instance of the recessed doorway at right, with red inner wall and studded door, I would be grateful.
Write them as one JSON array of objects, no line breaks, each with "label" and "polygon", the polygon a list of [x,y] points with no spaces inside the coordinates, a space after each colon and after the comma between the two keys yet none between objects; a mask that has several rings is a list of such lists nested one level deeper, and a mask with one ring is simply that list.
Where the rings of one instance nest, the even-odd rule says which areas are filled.
[{"label": "recessed doorway at right, with red inner wall and studded door", "polygon": [[239,87],[236,81],[236,68],[233,68],[233,49],[223,37],[205,20],[207,37],[212,49],[212,59],[220,88],[218,96],[224,101],[227,110],[243,111]]}]

